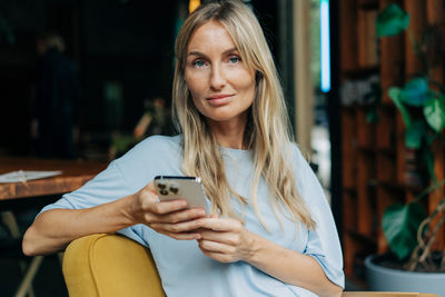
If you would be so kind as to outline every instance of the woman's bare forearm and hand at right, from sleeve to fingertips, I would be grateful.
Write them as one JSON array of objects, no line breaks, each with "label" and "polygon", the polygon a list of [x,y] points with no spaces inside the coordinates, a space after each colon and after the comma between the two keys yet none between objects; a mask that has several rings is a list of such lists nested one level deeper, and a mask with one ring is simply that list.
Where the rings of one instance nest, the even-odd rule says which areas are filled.
[{"label": "woman's bare forearm and hand at right, from sleeve to fingertips", "polygon": [[317,296],[342,296],[322,266],[308,255],[284,248],[247,230],[241,222],[216,216],[200,218],[195,232],[204,255],[220,263],[246,261],[283,283],[314,291]]}]

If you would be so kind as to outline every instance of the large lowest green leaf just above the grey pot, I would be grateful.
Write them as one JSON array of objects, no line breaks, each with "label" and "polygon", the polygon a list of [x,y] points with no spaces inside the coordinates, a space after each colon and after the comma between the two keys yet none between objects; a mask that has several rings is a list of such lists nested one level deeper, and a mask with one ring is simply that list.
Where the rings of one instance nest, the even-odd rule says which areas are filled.
[{"label": "large lowest green leaf just above the grey pot", "polygon": [[417,229],[426,218],[417,202],[393,205],[383,215],[383,231],[389,248],[399,258],[406,258],[417,245]]}]

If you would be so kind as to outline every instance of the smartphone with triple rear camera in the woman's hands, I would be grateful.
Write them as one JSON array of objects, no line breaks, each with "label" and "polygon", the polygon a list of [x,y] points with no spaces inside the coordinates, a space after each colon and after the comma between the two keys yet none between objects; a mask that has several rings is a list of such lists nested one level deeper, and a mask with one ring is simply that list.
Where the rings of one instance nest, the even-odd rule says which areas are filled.
[{"label": "smartphone with triple rear camera in the woman's hands", "polygon": [[155,189],[161,201],[184,198],[188,207],[207,209],[206,195],[199,177],[157,176]]}]

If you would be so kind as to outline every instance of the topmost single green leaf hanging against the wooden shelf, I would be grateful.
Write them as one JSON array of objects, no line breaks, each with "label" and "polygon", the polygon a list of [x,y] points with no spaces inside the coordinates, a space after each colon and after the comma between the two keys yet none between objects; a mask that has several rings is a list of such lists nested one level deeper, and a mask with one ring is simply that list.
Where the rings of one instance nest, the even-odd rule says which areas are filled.
[{"label": "topmost single green leaf hanging against the wooden shelf", "polygon": [[396,36],[403,32],[408,24],[409,14],[397,4],[389,4],[377,16],[377,37]]}]

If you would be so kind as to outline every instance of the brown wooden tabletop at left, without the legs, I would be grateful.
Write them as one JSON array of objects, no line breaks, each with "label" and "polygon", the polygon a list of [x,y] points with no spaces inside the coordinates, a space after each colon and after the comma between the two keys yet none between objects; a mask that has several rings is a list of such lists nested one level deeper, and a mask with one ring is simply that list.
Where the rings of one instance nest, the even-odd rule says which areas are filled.
[{"label": "brown wooden tabletop at left, without the legs", "polygon": [[0,184],[0,201],[69,192],[80,188],[106,167],[107,164],[96,161],[0,157],[0,174],[16,170],[62,171],[61,175],[49,178]]}]

